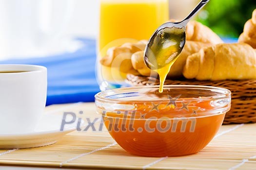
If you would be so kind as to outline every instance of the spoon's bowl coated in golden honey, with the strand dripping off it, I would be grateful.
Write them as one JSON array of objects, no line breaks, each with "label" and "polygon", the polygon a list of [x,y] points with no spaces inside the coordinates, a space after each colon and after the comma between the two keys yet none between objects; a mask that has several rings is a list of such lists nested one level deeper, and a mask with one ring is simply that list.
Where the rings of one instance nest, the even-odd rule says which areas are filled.
[{"label": "spoon's bowl coated in golden honey, with the strand dripping off it", "polygon": [[158,73],[159,92],[162,93],[167,74],[184,47],[185,29],[166,27],[159,30],[151,38],[152,41],[147,46],[144,59],[147,67]]}]

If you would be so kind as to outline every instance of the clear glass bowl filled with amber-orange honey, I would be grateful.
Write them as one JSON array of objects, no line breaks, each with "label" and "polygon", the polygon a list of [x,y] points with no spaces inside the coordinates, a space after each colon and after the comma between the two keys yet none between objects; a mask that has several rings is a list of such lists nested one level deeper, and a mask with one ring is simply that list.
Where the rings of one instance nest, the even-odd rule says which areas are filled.
[{"label": "clear glass bowl filled with amber-orange honey", "polygon": [[197,85],[126,87],[95,96],[110,135],[142,156],[197,153],[217,134],[231,106],[231,92]]}]

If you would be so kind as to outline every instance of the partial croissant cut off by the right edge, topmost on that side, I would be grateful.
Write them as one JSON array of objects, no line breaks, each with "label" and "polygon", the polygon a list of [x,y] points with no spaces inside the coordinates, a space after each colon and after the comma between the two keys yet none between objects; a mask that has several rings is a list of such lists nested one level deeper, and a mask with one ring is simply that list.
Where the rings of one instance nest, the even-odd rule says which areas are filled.
[{"label": "partial croissant cut off by the right edge, topmost on that side", "polygon": [[247,43],[256,49],[256,9],[253,12],[252,19],[245,23],[243,33],[239,36],[238,42]]}]

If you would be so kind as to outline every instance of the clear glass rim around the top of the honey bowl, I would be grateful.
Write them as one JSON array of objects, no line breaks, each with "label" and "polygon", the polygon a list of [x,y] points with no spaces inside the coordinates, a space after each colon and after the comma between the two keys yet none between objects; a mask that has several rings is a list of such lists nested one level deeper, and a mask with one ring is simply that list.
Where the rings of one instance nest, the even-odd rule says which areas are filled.
[{"label": "clear glass rim around the top of the honey bowl", "polygon": [[[104,90],[101,92],[98,92],[95,95],[95,101],[97,102],[108,102],[108,103],[117,103],[117,102],[124,102],[119,99],[110,99],[107,97],[104,97],[104,94],[111,93],[113,94],[122,94],[122,91],[125,90],[139,90],[139,89],[153,89],[153,88],[159,88],[159,85],[146,85],[146,86],[132,86],[132,87],[121,87],[121,88],[116,88],[116,89],[109,89],[109,90]],[[193,88],[193,89],[209,89],[209,90],[217,90],[221,94],[213,95],[213,96],[208,96],[208,97],[203,97],[203,98],[186,98],[182,100],[177,100],[176,102],[191,102],[191,101],[198,101],[200,100],[201,102],[204,101],[209,101],[209,100],[218,100],[218,99],[223,99],[223,98],[228,98],[231,97],[231,91],[226,88],[222,87],[216,87],[216,86],[207,86],[207,85],[164,85],[163,88]],[[118,93],[115,93],[118,92]],[[137,91],[135,91],[137,92]],[[110,96],[110,95],[109,95]],[[124,97],[125,98],[125,97]],[[162,99],[162,102],[168,102],[169,99]],[[127,102],[127,101],[126,101]],[[157,100],[139,100],[139,101],[131,101],[131,102],[159,102]]]}]

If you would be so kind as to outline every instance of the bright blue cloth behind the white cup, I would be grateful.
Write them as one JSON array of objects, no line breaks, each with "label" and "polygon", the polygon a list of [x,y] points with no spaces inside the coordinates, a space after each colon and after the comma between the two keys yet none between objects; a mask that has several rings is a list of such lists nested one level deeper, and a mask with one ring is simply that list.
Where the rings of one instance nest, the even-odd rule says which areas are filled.
[{"label": "bright blue cloth behind the white cup", "polygon": [[83,48],[42,58],[1,61],[0,64],[32,64],[48,69],[46,105],[70,102],[94,102],[99,87],[95,75],[96,42],[80,39]]}]

